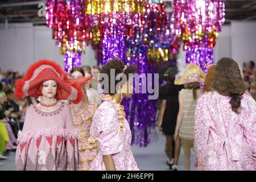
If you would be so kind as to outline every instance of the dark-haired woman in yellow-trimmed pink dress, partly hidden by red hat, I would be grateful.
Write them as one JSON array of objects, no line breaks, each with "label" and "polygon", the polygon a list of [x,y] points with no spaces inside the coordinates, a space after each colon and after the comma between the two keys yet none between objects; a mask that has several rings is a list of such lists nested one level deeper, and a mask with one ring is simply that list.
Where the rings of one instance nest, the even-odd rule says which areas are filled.
[{"label": "dark-haired woman in yellow-trimmed pink dress, partly hidden by red hat", "polygon": [[73,67],[71,70],[73,81],[77,82],[84,92],[84,98],[78,104],[70,104],[73,117],[73,123],[79,132],[79,170],[89,171],[92,161],[97,155],[96,143],[89,143],[90,126],[92,125],[92,117],[98,105],[89,103],[86,95],[85,85],[92,76],[85,77],[84,69],[81,67]]}]

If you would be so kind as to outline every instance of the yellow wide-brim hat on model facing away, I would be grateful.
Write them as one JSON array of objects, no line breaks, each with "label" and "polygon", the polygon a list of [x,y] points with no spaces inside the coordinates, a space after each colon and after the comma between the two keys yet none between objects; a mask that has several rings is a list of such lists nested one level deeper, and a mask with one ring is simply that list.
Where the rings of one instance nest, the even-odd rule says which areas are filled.
[{"label": "yellow wide-brim hat on model facing away", "polygon": [[192,82],[204,82],[205,73],[204,71],[196,64],[189,63],[187,64],[186,71],[183,76],[176,78],[174,81],[175,85],[190,84]]}]

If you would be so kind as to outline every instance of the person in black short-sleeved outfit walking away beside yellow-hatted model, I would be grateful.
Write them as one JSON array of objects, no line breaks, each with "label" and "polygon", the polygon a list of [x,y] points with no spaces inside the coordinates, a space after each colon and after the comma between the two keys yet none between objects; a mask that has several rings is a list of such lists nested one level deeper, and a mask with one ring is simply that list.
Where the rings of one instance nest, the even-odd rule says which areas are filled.
[{"label": "person in black short-sleeved outfit walking away beside yellow-hatted model", "polygon": [[168,83],[161,86],[159,90],[159,98],[162,100],[159,127],[162,127],[162,131],[166,135],[167,164],[172,170],[177,170],[180,154],[180,140],[174,141],[174,133],[179,112],[179,91],[184,88],[184,85],[174,85],[176,73],[176,67],[168,68]]}]

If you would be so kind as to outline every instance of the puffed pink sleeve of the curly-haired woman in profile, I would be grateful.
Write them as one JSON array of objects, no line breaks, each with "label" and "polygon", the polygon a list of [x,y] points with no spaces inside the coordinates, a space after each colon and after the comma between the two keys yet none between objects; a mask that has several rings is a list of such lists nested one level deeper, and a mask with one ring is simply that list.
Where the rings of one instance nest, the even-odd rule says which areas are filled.
[{"label": "puffed pink sleeve of the curly-haired woman in profile", "polygon": [[90,131],[92,137],[97,137],[102,155],[122,151],[122,131],[114,107],[108,105],[96,110]]}]

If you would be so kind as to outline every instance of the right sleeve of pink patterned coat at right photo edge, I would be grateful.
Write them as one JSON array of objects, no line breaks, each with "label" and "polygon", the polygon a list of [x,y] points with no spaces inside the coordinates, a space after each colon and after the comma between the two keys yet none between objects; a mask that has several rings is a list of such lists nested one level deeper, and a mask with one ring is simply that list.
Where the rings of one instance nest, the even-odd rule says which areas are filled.
[{"label": "right sleeve of pink patterned coat at right photo edge", "polygon": [[247,96],[246,100],[248,113],[246,118],[243,119],[244,135],[252,148],[253,154],[251,155],[253,156],[256,169],[256,102],[251,96]]}]

